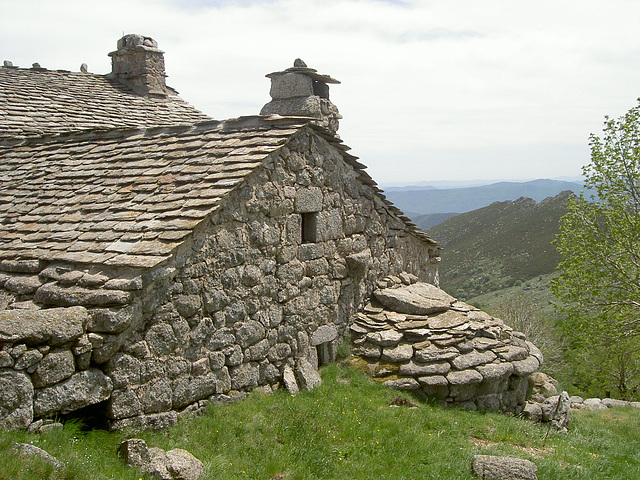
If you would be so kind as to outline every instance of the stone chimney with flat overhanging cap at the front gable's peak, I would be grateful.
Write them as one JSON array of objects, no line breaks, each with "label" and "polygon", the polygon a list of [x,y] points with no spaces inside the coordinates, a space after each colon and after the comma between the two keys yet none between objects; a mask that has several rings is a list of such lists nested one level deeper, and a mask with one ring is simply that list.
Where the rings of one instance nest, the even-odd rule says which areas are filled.
[{"label": "stone chimney with flat overhanging cap at the front gable's peak", "polygon": [[319,74],[299,58],[293,67],[270,73],[267,78],[271,79],[272,100],[262,107],[260,115],[312,117],[313,123],[334,134],[338,131],[338,120],[342,116],[329,100],[328,85],[340,83],[338,80]]}]

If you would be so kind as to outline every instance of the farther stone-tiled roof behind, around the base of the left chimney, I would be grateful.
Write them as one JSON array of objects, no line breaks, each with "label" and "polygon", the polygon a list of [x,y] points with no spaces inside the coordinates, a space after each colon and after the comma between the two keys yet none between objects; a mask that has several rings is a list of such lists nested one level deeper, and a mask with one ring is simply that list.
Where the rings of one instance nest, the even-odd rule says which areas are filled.
[{"label": "farther stone-tiled roof behind, around the base of the left chimney", "polygon": [[0,67],[0,138],[207,120],[175,91],[140,96],[107,75]]}]

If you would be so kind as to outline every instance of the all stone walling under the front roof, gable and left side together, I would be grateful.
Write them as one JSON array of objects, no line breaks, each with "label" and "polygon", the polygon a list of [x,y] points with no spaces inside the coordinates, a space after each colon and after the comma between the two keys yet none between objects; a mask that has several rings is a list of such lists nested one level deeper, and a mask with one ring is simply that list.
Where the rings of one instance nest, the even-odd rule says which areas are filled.
[{"label": "all stone walling under the front roof, gable and left side together", "polygon": [[[0,286],[14,309],[6,315],[16,325],[47,308],[45,317],[74,329],[61,343],[27,339],[22,327],[2,332],[0,378],[23,385],[13,391],[20,403],[32,398],[33,409],[14,415],[13,397],[5,398],[3,408],[11,405],[0,417],[24,427],[106,400],[112,428],[163,427],[176,411],[277,387],[297,359],[316,368],[331,361],[380,278],[407,271],[437,282],[435,245],[410,233],[358,175],[303,130],[159,267],[2,262]],[[66,399],[92,379],[98,393],[83,393],[82,405]],[[45,390],[55,406],[41,406]]]}]

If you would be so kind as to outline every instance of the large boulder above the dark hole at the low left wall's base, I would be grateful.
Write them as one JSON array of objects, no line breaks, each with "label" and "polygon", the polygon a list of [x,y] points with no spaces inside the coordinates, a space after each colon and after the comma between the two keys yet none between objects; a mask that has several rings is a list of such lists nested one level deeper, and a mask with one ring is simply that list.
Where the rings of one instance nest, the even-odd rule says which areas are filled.
[{"label": "large boulder above the dark hole at the low left wall's base", "polygon": [[92,368],[77,372],[52,387],[36,390],[34,415],[46,417],[58,412],[73,412],[108,399],[112,390],[113,382],[100,370]]}]

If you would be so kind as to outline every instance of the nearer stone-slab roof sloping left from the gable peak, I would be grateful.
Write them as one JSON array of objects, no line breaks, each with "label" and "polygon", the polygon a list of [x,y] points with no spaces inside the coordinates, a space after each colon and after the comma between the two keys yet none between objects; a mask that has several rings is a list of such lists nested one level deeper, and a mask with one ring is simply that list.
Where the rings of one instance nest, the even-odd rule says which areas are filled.
[{"label": "nearer stone-slab roof sloping left from the gable peak", "polygon": [[193,126],[115,129],[0,140],[0,259],[150,268],[168,258],[220,200],[308,119],[245,117]]}]

